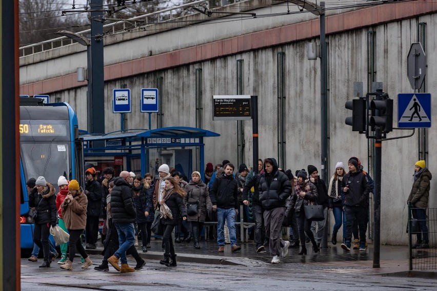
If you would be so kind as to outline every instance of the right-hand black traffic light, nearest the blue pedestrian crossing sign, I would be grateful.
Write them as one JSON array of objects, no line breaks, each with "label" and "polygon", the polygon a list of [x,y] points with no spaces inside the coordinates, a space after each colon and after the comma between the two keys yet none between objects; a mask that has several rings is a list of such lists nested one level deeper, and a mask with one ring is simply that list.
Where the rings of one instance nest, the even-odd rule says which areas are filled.
[{"label": "right-hand black traffic light, nearest the blue pedestrian crossing sign", "polygon": [[[388,98],[387,94],[383,95],[382,100],[372,100],[370,108],[372,109],[372,117],[370,117],[370,124],[372,126],[380,127],[383,133],[393,131],[393,100]],[[378,116],[376,111],[379,111]]]}]

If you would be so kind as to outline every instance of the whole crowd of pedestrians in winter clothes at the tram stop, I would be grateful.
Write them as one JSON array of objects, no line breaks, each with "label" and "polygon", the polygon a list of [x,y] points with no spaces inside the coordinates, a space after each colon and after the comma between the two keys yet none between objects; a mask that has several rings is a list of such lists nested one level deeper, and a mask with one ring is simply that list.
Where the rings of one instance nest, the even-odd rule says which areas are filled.
[{"label": "whole crowd of pedestrians in winter clothes at the tram stop", "polygon": [[[369,193],[373,192],[374,185],[360,159],[351,157],[347,171],[343,162],[337,162],[328,184],[320,178],[314,165],[306,168],[293,175],[291,170],[280,169],[274,158],[267,158],[258,161],[256,173],[249,171],[246,164],[240,164],[234,175],[234,165],[224,160],[215,167],[209,162],[203,181],[200,172],[194,171],[188,179],[162,164],[153,181],[150,173],[141,177],[122,171],[115,177],[111,167],[102,171],[102,179],[97,179],[96,170],[88,164],[86,190],[76,180],[68,181],[60,176],[57,195],[44,177],[31,178],[27,185],[29,204],[34,207],[35,247],[29,261],[37,261],[39,248],[42,248],[44,261],[39,267],[50,267],[58,254],[53,247],[51,251],[49,230],[58,222],[70,234],[70,239],[68,256],[67,243],[62,244],[61,259],[57,263],[62,269],[71,270],[77,251],[82,268],[88,268],[92,261],[86,249],[96,248],[99,218],[104,218],[103,261],[94,269],[109,271],[109,264],[121,273],[143,268],[146,262],[136,246],[140,246],[143,253],[147,252],[153,227],[163,230],[164,256],[160,263],[176,266],[174,243],[192,239],[193,248],[201,248],[200,235],[206,221],[216,222],[216,228],[210,227],[215,229],[210,237],[216,238],[217,252],[223,253],[226,243],[231,252],[241,250],[235,224],[242,218],[254,223],[251,229],[254,251],[266,253],[268,246],[271,262],[280,263],[280,257],[285,257],[290,247],[300,246],[299,255],[306,255],[306,243],[311,242],[310,250],[314,254],[319,252],[331,211],[335,221],[332,244],[337,243],[337,234],[343,225],[341,247],[346,252],[351,248],[365,251]],[[413,217],[424,221],[414,247],[426,248],[429,247],[428,229],[423,217],[431,173],[425,161],[416,162],[413,178],[408,203],[413,205]],[[240,206],[243,213],[239,213]],[[314,208],[320,211],[317,219],[312,216]],[[282,239],[281,227],[284,226],[290,227],[288,241]],[[82,245],[84,232],[86,247]],[[127,255],[133,256],[135,267],[128,265]]]}]

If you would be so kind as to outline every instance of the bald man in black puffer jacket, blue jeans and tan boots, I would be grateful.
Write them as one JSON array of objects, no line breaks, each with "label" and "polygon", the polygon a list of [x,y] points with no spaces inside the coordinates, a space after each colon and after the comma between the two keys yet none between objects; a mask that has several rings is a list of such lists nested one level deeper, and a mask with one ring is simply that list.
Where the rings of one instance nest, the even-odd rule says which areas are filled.
[{"label": "bald man in black puffer jacket, blue jeans and tan boots", "polygon": [[[126,251],[135,243],[135,227],[133,223],[136,219],[135,206],[131,192],[132,178],[127,171],[120,173],[120,177],[114,179],[114,188],[111,192],[111,212],[112,222],[117,229],[120,246],[115,254],[108,259],[108,262],[119,272],[135,272],[134,268],[129,267],[126,259]],[[118,259],[122,267],[118,265]]]}]

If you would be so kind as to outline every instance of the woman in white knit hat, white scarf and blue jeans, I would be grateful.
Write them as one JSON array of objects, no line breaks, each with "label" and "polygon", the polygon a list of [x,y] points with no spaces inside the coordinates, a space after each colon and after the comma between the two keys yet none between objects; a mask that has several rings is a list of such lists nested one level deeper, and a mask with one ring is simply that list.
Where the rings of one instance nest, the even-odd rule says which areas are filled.
[{"label": "woman in white knit hat, white scarf and blue jeans", "polygon": [[343,176],[345,175],[345,165],[343,162],[337,162],[335,165],[335,173],[332,175],[328,186],[329,210],[334,215],[334,229],[332,230],[332,244],[337,243],[337,232],[343,223],[343,239],[346,237],[346,215],[343,211],[343,202],[341,196],[341,185]]}]

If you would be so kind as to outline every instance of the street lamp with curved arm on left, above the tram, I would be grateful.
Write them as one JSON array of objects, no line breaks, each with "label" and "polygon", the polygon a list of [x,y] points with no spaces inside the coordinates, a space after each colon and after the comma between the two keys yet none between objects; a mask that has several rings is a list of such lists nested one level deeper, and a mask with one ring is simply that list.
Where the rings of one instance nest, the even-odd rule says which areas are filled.
[{"label": "street lamp with curved arm on left, above the tram", "polygon": [[[87,79],[88,80],[88,84],[87,84],[87,129],[88,132],[91,133],[93,132],[93,127],[92,127],[92,61],[91,61],[91,41],[74,32],[71,31],[67,31],[67,30],[61,30],[58,32],[55,32],[54,34],[58,34],[58,35],[62,35],[65,37],[68,37],[70,39],[72,39],[73,41],[75,41],[78,44],[81,44],[85,47],[87,47],[87,67],[88,67],[88,74],[86,72],[83,72],[84,74],[80,73],[83,70],[83,68],[77,68],[77,72],[78,72],[78,77],[81,75],[81,80],[79,78],[77,78],[77,81],[82,81],[82,79]],[[83,78],[82,78],[83,75]],[[88,75],[88,78],[86,77],[86,75]]]}]

